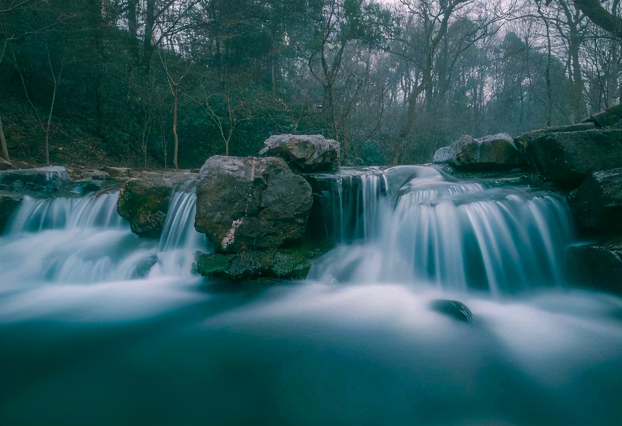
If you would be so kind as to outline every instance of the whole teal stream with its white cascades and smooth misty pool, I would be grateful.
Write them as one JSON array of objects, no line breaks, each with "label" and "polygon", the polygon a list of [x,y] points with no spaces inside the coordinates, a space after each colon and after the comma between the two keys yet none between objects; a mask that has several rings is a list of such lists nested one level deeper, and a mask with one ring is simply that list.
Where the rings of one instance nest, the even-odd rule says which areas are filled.
[{"label": "whole teal stream with its white cascades and smooth misty pool", "polygon": [[192,271],[192,185],[159,241],[118,192],[22,201],[0,424],[620,425],[622,300],[566,284],[563,198],[426,166],[320,175],[335,249],[307,280],[227,285]]}]

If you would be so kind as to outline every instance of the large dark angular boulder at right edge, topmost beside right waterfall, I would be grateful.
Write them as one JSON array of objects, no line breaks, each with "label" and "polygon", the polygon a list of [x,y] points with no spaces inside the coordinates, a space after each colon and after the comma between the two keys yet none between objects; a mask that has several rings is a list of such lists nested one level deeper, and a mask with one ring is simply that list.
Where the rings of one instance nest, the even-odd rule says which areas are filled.
[{"label": "large dark angular boulder at right edge, topmost beside right waterfall", "polygon": [[576,188],[593,172],[620,167],[622,129],[544,134],[526,151],[543,177]]}]

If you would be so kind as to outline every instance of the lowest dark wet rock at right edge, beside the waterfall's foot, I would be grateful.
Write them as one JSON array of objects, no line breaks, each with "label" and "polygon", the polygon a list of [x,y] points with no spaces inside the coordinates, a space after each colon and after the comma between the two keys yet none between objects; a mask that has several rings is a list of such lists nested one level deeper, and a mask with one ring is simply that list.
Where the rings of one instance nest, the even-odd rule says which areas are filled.
[{"label": "lowest dark wet rock at right edge, beside the waterfall's foot", "polygon": [[594,244],[570,246],[567,257],[571,282],[622,294],[622,236]]}]

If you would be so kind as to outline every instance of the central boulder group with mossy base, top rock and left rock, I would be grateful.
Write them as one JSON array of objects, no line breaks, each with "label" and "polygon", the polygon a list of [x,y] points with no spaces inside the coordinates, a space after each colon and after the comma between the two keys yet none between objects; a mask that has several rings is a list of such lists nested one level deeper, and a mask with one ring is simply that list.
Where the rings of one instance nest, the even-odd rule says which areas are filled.
[{"label": "central boulder group with mossy base, top rock and left rock", "polygon": [[197,174],[143,173],[121,187],[119,215],[140,236],[162,233],[171,188],[195,179],[195,229],[215,253],[199,254],[198,272],[230,280],[304,278],[322,251],[302,244],[313,204],[309,171],[338,168],[339,144],[320,135],[272,136],[258,157],[214,155]]}]

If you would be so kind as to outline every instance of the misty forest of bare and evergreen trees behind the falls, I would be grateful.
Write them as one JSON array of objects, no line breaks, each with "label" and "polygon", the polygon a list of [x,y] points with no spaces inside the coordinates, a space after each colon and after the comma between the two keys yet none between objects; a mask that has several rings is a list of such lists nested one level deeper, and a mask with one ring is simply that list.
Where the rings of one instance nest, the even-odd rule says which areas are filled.
[{"label": "misty forest of bare and evergreen trees behind the falls", "polygon": [[0,118],[39,163],[191,168],[279,133],[429,162],[620,103],[621,22],[620,0],[0,0]]}]

